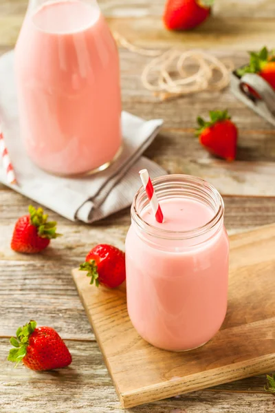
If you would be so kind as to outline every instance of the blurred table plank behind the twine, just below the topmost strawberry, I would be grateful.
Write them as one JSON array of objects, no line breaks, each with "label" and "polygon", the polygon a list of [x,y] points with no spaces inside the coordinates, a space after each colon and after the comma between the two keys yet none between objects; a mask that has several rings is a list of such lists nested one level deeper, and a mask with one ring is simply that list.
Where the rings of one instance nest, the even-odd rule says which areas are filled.
[{"label": "blurred table plank behind the twine, just below the topmost strawberry", "polygon": [[[12,47],[17,39],[22,14],[0,15],[0,45]],[[272,48],[275,43],[275,17],[272,19],[226,17],[210,18],[200,28],[192,32],[169,32],[159,17],[107,17],[111,30],[142,47],[171,47],[188,45],[215,50],[260,49],[263,45]],[[218,41],[217,41],[218,39]]]}]

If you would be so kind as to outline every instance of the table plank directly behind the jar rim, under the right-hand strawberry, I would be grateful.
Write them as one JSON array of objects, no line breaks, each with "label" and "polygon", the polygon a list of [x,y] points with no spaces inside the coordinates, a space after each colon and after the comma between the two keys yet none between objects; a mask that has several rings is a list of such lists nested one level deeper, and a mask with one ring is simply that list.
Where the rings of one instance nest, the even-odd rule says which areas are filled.
[{"label": "table plank directly behind the jar rim, under the right-hand strawberry", "polygon": [[[275,196],[275,139],[240,135],[238,159],[225,162],[212,157],[192,133],[160,134],[145,154],[168,173],[199,176],[222,195]],[[259,160],[257,160],[259,159]]]}]

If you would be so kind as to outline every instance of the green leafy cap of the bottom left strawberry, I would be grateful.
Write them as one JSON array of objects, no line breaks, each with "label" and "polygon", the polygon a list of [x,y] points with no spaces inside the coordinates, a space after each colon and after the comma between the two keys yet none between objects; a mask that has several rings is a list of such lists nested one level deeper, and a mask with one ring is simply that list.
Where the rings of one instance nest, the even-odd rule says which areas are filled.
[{"label": "green leafy cap of the bottom left strawberry", "polygon": [[35,328],[36,321],[31,320],[29,323],[25,324],[25,326],[17,329],[17,337],[10,338],[10,343],[14,348],[10,349],[8,361],[12,361],[18,365],[25,357],[29,345],[29,337],[32,335]]}]

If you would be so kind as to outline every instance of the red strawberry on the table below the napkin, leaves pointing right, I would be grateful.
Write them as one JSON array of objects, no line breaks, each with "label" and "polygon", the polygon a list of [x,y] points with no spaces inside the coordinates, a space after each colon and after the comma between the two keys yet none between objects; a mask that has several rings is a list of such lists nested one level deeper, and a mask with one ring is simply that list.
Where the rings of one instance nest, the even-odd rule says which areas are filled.
[{"label": "red strawberry on the table below the napkin, leaves pointing right", "polygon": [[43,209],[36,210],[30,205],[29,214],[19,218],[14,226],[10,246],[17,253],[39,253],[50,244],[52,238],[60,235],[56,233],[56,222],[47,222],[47,214],[43,213]]}]

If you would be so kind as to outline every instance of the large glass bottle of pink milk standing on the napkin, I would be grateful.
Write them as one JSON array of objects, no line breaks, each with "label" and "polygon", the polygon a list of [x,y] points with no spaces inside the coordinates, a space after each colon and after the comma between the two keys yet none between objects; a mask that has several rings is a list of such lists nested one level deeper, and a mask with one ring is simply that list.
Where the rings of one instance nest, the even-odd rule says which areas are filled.
[{"label": "large glass bottle of pink milk standing on the napkin", "polygon": [[120,151],[118,50],[96,0],[30,0],[15,48],[21,138],[57,175],[102,170]]}]

